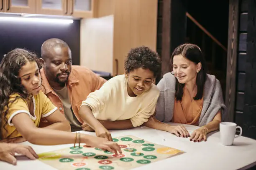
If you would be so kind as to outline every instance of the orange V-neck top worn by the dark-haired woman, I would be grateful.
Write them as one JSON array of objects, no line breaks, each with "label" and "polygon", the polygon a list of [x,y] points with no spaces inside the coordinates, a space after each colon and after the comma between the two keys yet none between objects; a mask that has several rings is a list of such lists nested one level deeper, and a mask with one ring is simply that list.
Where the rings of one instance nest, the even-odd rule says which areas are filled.
[{"label": "orange V-neck top worn by the dark-haired woman", "polygon": [[181,101],[174,101],[172,122],[188,125],[197,125],[202,112],[203,97],[200,100],[191,99],[186,87],[183,88]]}]

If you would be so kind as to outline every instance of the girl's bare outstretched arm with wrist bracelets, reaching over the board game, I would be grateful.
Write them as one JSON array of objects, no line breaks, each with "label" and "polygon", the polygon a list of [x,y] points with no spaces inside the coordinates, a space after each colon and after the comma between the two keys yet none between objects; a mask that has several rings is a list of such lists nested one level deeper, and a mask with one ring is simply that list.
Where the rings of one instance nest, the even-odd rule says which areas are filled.
[{"label": "girl's bare outstretched arm with wrist bracelets, reaching over the board game", "polygon": [[[37,128],[27,113],[19,113],[15,115],[12,118],[12,123],[28,142],[36,145],[61,145],[79,142],[78,138],[75,141],[76,133]],[[110,142],[103,138],[81,134],[81,143],[86,143],[92,147],[106,149],[110,152],[113,151],[113,153],[117,153],[116,150],[118,150],[121,153],[117,143]]]}]

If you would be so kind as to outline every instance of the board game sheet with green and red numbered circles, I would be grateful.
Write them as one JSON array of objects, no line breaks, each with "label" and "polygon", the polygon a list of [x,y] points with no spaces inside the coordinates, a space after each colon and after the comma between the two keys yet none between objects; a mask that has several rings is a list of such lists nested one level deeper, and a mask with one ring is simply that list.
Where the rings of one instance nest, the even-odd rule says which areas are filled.
[{"label": "board game sheet with green and red numbered circles", "polygon": [[38,160],[58,170],[129,170],[184,153],[132,135],[113,138],[113,141],[122,148],[122,154],[81,145],[38,154]]}]

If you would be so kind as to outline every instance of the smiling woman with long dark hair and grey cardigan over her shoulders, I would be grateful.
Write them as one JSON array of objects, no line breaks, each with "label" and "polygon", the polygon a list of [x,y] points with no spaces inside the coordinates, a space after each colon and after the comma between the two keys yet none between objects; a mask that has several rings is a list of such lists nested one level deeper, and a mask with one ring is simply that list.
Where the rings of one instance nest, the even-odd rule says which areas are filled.
[{"label": "smiling woman with long dark hair and grey cardigan over her shoulders", "polygon": [[190,141],[206,141],[207,133],[218,130],[225,117],[220,82],[214,75],[207,74],[202,51],[195,44],[182,44],[175,48],[170,66],[171,72],[166,73],[157,84],[160,95],[156,104],[156,119],[200,128],[189,134],[183,125],[168,126],[153,118],[148,123],[178,137],[190,137]]}]

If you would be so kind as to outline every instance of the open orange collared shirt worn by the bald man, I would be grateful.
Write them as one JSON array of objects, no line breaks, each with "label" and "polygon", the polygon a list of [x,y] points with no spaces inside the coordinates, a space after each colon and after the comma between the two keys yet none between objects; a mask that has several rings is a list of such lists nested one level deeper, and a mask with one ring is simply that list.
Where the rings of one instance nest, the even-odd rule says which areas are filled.
[{"label": "open orange collared shirt worn by the bald man", "polygon": [[[51,102],[58,107],[59,111],[64,114],[64,109],[59,96],[49,85],[49,82],[44,73],[44,68],[40,70],[42,77],[41,90],[51,100]],[[79,117],[79,108],[82,101],[87,98],[90,92],[100,89],[100,87],[106,82],[104,78],[98,76],[92,70],[84,66],[73,65],[71,73],[68,78],[67,88],[69,93],[69,99],[72,106],[74,115],[80,123],[83,123]]]}]

